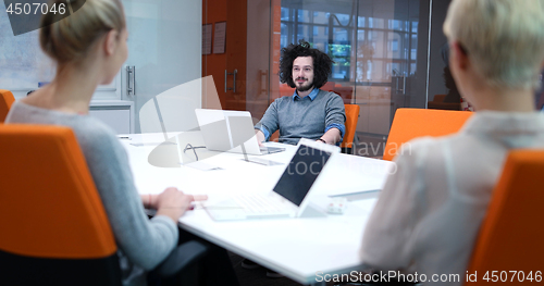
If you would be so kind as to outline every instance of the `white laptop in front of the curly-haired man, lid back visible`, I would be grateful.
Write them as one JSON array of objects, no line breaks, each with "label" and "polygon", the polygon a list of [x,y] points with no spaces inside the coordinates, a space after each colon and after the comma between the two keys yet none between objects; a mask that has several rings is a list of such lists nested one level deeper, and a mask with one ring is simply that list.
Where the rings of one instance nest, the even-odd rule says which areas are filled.
[{"label": "white laptop in front of the curly-haired man, lid back visible", "polygon": [[249,111],[196,109],[195,113],[208,150],[245,154],[285,151],[285,148],[259,146]]}]

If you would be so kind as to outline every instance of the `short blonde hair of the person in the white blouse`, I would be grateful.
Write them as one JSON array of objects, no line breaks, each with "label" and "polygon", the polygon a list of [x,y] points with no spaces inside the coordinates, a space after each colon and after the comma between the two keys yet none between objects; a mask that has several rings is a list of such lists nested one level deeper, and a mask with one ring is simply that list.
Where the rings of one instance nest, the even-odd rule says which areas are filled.
[{"label": "short blonde hair of the person in the white blouse", "polygon": [[544,0],[453,0],[444,23],[489,85],[535,89],[544,61]]}]

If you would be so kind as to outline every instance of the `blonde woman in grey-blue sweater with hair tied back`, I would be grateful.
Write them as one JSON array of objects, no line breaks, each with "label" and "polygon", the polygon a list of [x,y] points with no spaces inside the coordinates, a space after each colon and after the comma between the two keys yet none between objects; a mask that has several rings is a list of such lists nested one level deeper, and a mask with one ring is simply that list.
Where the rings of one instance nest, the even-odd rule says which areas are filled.
[{"label": "blonde woman in grey-blue sweater with hair tied back", "polygon": [[[45,15],[39,33],[42,50],[57,62],[54,79],[15,102],[7,123],[72,127],[120,249],[123,283],[146,285],[146,273],[177,245],[177,220],[194,198],[176,188],[168,188],[160,195],[138,196],[124,148],[108,126],[88,116],[95,89],[111,83],[127,58],[128,33],[123,7],[120,0],[71,3],[83,7],[60,21],[57,18],[60,14]],[[144,206],[157,209],[157,215],[149,220]]]}]

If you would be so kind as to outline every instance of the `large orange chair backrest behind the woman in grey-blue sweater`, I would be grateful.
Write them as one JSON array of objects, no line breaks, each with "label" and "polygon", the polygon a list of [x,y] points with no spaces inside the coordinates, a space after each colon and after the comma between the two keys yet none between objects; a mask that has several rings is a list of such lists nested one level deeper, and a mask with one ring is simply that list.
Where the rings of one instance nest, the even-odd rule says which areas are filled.
[{"label": "large orange chair backrest behind the woman in grey-blue sweater", "polygon": [[113,234],[72,129],[1,125],[0,152],[0,281],[120,285]]}]

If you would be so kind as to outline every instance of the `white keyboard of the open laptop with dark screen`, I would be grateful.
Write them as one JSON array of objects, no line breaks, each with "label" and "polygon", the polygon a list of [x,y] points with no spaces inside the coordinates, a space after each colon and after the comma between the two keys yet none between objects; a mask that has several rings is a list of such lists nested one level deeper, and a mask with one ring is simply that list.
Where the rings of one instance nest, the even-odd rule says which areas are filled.
[{"label": "white keyboard of the open laptop with dark screen", "polygon": [[285,204],[279,200],[270,199],[268,196],[252,194],[234,196],[234,201],[244,209],[246,213],[286,213]]}]

